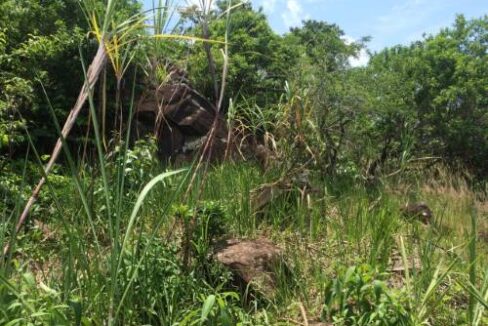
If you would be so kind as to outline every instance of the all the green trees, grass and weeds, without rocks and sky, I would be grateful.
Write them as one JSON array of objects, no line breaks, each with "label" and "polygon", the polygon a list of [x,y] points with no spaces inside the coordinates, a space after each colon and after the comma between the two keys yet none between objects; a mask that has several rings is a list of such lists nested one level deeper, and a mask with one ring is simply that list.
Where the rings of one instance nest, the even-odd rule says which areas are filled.
[{"label": "all the green trees, grass and weeds, without rocks and sky", "polygon": [[[369,38],[339,26],[278,35],[246,2],[174,5],[0,3],[0,324],[486,325],[488,16],[352,67]],[[100,42],[106,65],[16,232]],[[266,164],[164,165],[154,139],[130,141],[172,65]],[[267,187],[286,189],[256,210]],[[429,224],[402,213],[417,201]],[[272,290],[212,259],[232,237],[282,249]]]}]

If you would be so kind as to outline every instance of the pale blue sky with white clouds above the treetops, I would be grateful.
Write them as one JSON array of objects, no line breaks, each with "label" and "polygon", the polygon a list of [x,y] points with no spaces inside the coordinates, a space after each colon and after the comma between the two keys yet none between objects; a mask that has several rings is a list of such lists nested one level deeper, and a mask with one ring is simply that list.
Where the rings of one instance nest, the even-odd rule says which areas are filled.
[{"label": "pale blue sky with white clouds above the treetops", "polygon": [[[152,0],[144,0],[146,5]],[[198,0],[181,0],[180,5]],[[456,14],[477,18],[488,14],[488,0],[252,0],[262,7],[277,33],[301,25],[304,19],[335,23],[350,40],[370,36],[372,51],[409,44],[424,33],[452,25]],[[367,61],[366,54],[354,62]]]}]

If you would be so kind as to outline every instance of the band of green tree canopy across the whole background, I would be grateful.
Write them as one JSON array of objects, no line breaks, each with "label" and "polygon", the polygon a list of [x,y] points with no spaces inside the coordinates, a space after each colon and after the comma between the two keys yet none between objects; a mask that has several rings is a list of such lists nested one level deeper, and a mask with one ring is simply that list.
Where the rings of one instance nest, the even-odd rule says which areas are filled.
[{"label": "band of green tree canopy across the whole background", "polygon": [[[139,9],[137,1],[125,0],[117,15]],[[294,117],[284,125],[300,135],[305,156],[311,155],[326,173],[354,166],[363,175],[375,175],[418,158],[488,173],[486,16],[471,21],[459,16],[437,35],[384,49],[359,68],[349,62],[368,38],[352,42],[327,22],[304,21],[278,35],[261,9],[235,1],[217,1],[209,12],[190,7],[181,18],[179,32],[216,41],[227,37],[225,81],[220,43],[148,42],[141,47],[147,53],[133,65],[144,65],[147,58],[181,65],[195,88],[213,101],[216,88],[224,84],[225,102],[233,99],[237,107],[246,107],[237,112],[242,121],[266,117],[269,121],[260,125],[277,134],[273,126],[285,116],[284,101],[291,101]],[[93,54],[95,40],[87,33],[87,17],[77,0],[0,4],[0,151],[22,149],[24,126],[41,152],[51,148],[57,135],[43,87],[63,121],[83,82],[80,53]],[[163,71],[158,67],[156,73]],[[87,118],[77,121],[78,132],[70,141],[85,130]],[[284,131],[285,138],[296,136]]]}]

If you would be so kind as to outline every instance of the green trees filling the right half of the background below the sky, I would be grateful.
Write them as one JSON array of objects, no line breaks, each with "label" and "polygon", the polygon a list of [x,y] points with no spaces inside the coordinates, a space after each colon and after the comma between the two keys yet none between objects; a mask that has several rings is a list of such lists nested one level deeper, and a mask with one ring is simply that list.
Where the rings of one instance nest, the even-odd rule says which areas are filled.
[{"label": "green trees filling the right half of the background below the sky", "polygon": [[426,159],[484,176],[486,33],[486,17],[459,16],[438,35],[351,69],[348,60],[368,39],[350,43],[335,25],[304,22],[283,39],[301,55],[289,69],[286,101],[275,109],[289,113],[288,124],[274,132],[327,175],[349,171],[370,180]]}]

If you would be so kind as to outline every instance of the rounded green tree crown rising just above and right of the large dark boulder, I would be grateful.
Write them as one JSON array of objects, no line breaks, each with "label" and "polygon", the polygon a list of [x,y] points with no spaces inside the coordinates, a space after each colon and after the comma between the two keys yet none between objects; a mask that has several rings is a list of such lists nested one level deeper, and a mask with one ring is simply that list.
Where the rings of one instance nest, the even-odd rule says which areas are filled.
[{"label": "rounded green tree crown rising just above and right of the large dark boulder", "polygon": [[[232,2],[233,5],[237,3]],[[227,8],[228,1],[218,1],[209,22],[210,39],[223,41],[225,33],[229,33],[226,98],[242,97],[260,105],[275,102],[291,64],[284,57],[286,49],[281,38],[273,32],[266,16],[261,11],[253,10],[250,2],[243,2],[232,10],[229,25],[223,15]],[[188,13],[189,17],[195,17],[196,14]],[[201,27],[197,26],[192,33],[201,35]],[[212,53],[220,85],[224,61],[218,46],[212,47]],[[214,97],[212,76],[207,67],[208,60],[202,46],[191,49],[188,65],[190,76],[198,90]]]}]

